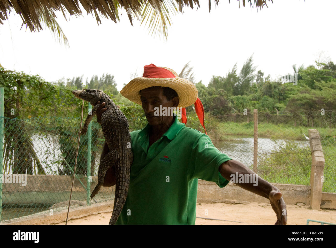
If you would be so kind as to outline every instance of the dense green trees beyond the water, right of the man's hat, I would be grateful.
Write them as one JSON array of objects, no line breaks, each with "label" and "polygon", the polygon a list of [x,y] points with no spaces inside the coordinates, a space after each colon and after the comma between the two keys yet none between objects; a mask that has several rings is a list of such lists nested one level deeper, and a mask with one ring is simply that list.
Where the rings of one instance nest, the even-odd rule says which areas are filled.
[{"label": "dense green trees beyond the water, right of the man's hat", "polygon": [[[244,109],[248,113],[258,109],[275,114],[278,111],[334,110],[336,107],[336,65],[332,61],[316,62],[316,67],[301,66],[298,70],[294,65],[292,74],[282,75],[288,79],[292,76],[292,82],[279,82],[279,78],[264,77],[261,70],[257,73],[255,70],[251,56],[239,74],[235,64],[226,76],[213,76],[208,86],[202,81],[196,83],[204,110],[212,115],[243,113]],[[307,125],[311,125],[311,118],[306,117]]]}]

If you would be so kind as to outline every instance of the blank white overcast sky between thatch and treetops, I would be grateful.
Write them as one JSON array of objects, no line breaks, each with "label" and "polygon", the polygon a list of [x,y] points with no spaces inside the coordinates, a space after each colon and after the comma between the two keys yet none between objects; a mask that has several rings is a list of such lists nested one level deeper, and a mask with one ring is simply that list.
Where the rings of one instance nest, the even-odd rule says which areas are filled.
[{"label": "blank white overcast sky between thatch and treetops", "polygon": [[66,34],[70,48],[59,44],[48,28],[39,33],[20,30],[22,20],[10,14],[0,26],[0,63],[8,70],[39,74],[47,81],[84,74],[115,76],[118,90],[130,81],[131,74],[142,76],[143,66],[151,63],[180,73],[189,61],[196,82],[208,85],[212,75],[225,76],[237,62],[240,71],[254,53],[254,65],[265,76],[292,73],[292,65],[315,65],[323,53],[336,62],[335,0],[274,0],[258,12],[238,1],[214,3],[211,13],[207,1],[201,8],[184,8],[172,15],[168,41],[149,35],[145,26],[134,20],[131,26],[123,10],[120,22],[101,17],[65,20],[56,12],[57,22]]}]

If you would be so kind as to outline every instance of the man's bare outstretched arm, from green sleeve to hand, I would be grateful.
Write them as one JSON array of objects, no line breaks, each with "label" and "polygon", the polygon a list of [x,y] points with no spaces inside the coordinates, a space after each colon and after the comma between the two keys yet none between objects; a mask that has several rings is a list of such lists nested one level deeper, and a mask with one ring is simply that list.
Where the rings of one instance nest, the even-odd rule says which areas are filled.
[{"label": "man's bare outstretched arm, from green sleeve to hand", "polygon": [[257,179],[257,183],[254,183],[252,180],[249,181],[249,183],[244,180],[243,183],[238,183],[238,178],[236,178],[235,183],[244,190],[251,191],[259,196],[269,199],[272,209],[277,214],[277,222],[275,224],[287,224],[286,204],[280,190],[277,187],[262,179],[251,169],[234,159],[222,163],[219,166],[218,171],[228,181],[230,181],[233,176],[236,176],[237,172],[238,175],[243,175],[244,178],[248,175],[255,177]]}]

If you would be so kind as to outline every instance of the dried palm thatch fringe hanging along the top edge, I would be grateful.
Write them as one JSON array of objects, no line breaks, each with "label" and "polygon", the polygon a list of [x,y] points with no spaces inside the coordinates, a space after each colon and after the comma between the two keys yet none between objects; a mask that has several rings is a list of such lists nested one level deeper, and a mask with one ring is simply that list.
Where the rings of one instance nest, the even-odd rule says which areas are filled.
[{"label": "dried palm thatch fringe hanging along the top edge", "polygon": [[[218,6],[219,0],[213,1]],[[243,6],[245,6],[245,0],[242,1]],[[53,23],[50,24],[50,26],[54,25],[54,30],[62,33],[61,29],[55,26],[54,18],[56,18],[56,15],[54,14],[54,11],[62,11],[65,18],[66,12],[71,16],[74,15],[77,17],[82,15],[82,10],[80,9],[81,4],[87,13],[94,14],[97,24],[99,25],[99,23],[101,24],[99,14],[105,18],[111,18],[117,23],[117,20],[119,20],[118,9],[123,7],[127,11],[131,25],[133,25],[132,14],[135,15],[138,20],[139,16],[142,16],[142,22],[145,17],[148,17],[146,23],[150,20],[149,27],[150,30],[153,29],[152,33],[156,33],[158,30],[155,29],[158,28],[159,31],[162,30],[165,37],[167,37],[166,22],[170,24],[169,9],[170,12],[175,12],[178,9],[179,12],[183,13],[184,6],[191,7],[192,9],[194,8],[194,5],[200,7],[199,0],[175,0],[175,2],[177,7],[175,7],[173,0],[170,0],[169,2],[167,2],[167,0],[0,0],[0,24],[3,24],[2,21],[7,20],[9,13],[14,10],[21,16],[23,20],[22,26],[26,25],[26,29],[29,28],[32,32],[42,29],[41,21],[44,21]],[[250,2],[251,7],[261,8],[264,7],[264,5],[267,7],[266,0],[247,0],[247,2]],[[208,0],[208,7],[210,12],[211,0]],[[47,14],[48,12],[50,14]],[[157,15],[155,16],[154,13]],[[66,39],[64,34],[63,38]]]}]

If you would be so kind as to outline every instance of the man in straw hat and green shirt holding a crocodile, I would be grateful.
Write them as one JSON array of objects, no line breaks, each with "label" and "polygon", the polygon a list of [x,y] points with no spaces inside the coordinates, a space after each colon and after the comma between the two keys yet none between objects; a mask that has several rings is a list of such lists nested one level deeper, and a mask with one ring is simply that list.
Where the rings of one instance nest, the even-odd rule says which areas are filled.
[{"label": "man in straw hat and green shirt holding a crocodile", "polygon": [[[169,68],[151,64],[144,66],[142,77],[131,80],[120,93],[142,105],[148,124],[131,132],[134,159],[130,186],[116,224],[195,224],[198,178],[214,181],[222,188],[236,175],[243,175],[243,180],[234,180],[241,188],[269,199],[277,215],[275,224],[287,223],[286,204],[279,189],[222,154],[206,134],[186,127],[176,115],[158,114],[158,109],[185,108],[195,103],[204,126],[203,106],[193,83]],[[97,110],[98,122],[104,106],[103,102]],[[182,122],[186,123],[186,116]],[[105,143],[101,159],[108,151]],[[112,167],[106,172],[103,186],[115,183]]]}]

